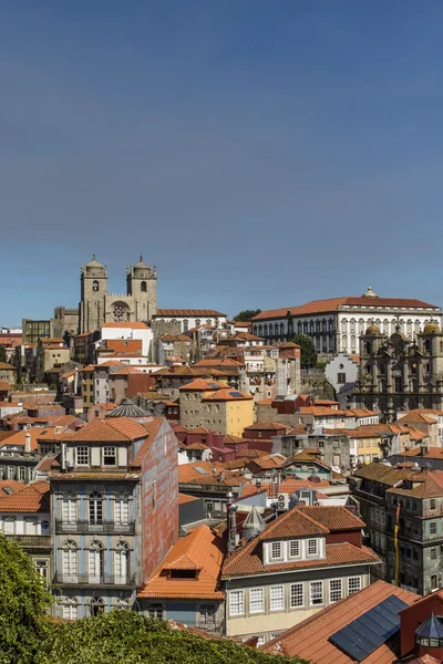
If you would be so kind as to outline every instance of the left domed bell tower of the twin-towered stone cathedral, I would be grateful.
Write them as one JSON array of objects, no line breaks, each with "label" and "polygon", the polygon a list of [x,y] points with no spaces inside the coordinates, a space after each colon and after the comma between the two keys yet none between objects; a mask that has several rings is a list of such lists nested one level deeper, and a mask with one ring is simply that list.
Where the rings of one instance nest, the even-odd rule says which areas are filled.
[{"label": "left domed bell tower of the twin-towered stone cathedral", "polygon": [[104,322],[107,292],[107,269],[96,259],[82,266],[80,271],[81,302],[79,305],[79,330],[81,333],[95,330]]}]

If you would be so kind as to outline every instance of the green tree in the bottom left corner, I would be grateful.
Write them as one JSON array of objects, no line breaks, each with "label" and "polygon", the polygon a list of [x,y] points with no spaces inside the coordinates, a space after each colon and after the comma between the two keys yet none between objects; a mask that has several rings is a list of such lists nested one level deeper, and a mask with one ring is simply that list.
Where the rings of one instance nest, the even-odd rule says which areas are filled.
[{"label": "green tree in the bottom left corner", "polygon": [[32,560],[0,533],[0,662],[33,664],[48,630],[51,595]]}]

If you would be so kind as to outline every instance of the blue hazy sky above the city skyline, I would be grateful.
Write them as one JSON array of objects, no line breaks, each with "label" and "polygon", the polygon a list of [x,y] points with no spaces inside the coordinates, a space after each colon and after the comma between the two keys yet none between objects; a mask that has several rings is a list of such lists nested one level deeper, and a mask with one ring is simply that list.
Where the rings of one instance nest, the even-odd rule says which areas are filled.
[{"label": "blue hazy sky above the city skyline", "polygon": [[0,324],[140,253],[161,307],[443,304],[440,0],[6,0]]}]

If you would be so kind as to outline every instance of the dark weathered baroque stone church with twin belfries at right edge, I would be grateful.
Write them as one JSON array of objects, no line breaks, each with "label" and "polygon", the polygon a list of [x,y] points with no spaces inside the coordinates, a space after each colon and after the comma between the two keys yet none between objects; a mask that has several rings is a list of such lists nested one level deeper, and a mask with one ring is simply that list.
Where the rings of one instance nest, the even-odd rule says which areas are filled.
[{"label": "dark weathered baroque stone church with twin belfries at right edge", "polygon": [[356,401],[394,422],[400,409],[443,409],[443,332],[436,321],[409,340],[396,328],[383,335],[375,324],[360,338]]}]

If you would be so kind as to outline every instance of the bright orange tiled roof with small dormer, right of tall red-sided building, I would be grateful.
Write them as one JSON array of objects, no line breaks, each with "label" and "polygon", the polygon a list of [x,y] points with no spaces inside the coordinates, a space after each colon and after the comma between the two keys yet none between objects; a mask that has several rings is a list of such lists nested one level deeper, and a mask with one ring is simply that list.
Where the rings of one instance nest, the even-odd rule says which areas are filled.
[{"label": "bright orange tiled roof with small dormer, right of tall red-sided building", "polygon": [[[207,526],[198,526],[174,544],[137,596],[224,600],[218,588],[224,556],[222,538]],[[195,579],[172,579],[171,570],[196,570],[197,574]]]}]

